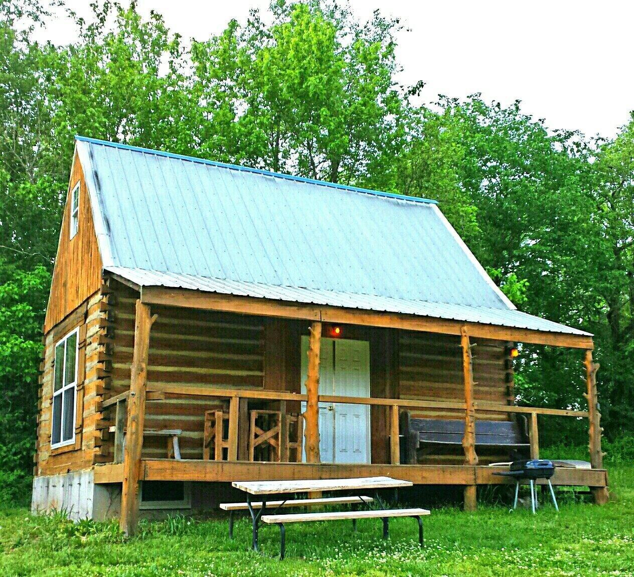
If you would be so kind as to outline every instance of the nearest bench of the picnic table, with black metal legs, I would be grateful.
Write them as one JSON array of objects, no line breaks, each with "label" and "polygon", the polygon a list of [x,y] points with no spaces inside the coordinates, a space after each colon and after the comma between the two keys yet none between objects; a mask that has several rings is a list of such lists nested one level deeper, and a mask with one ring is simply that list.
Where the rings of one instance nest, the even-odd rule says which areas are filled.
[{"label": "nearest bench of the picnic table, with black metal legs", "polygon": [[389,519],[391,517],[413,517],[418,521],[418,543],[423,546],[423,515],[429,515],[427,509],[377,509],[372,511],[337,511],[332,513],[305,513],[287,515],[262,515],[262,522],[266,524],[276,524],[280,528],[280,559],[284,559],[286,554],[286,523],[298,523],[309,521],[339,521],[342,519],[382,519],[383,538],[389,537]]}]

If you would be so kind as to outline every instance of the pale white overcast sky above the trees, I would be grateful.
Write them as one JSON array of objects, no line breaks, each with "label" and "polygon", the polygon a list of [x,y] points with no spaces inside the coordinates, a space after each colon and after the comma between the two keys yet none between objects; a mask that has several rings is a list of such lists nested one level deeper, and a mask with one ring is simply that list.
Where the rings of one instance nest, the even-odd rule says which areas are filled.
[{"label": "pale white overcast sky above the trees", "polygon": [[[89,16],[89,0],[66,0]],[[122,0],[127,3],[127,0]],[[231,18],[244,22],[249,8],[268,0],[138,0],[185,39],[217,34]],[[350,0],[359,20],[376,8],[406,27],[398,37],[399,82],[426,82],[424,101],[439,93],[485,100],[544,118],[550,128],[580,129],[612,137],[634,109],[632,23],[634,3],[568,0]],[[67,22],[39,36],[62,44],[74,34]]]}]

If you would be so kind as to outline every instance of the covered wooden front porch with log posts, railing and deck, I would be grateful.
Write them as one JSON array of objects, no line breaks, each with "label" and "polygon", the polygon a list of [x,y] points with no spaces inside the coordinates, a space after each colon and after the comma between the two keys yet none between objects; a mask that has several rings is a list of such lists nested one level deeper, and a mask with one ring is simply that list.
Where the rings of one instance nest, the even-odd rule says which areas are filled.
[{"label": "covered wooden front porch with log posts, railing and deck", "polygon": [[[592,469],[558,468],[552,481],[588,486],[597,502],[607,498],[591,339],[407,315],[299,306],[291,310],[261,299],[219,300],[217,295],[186,290],[143,289],[140,299],[135,292],[119,287],[110,308],[107,338],[113,346],[107,357],[111,364],[105,368],[112,392],[100,406],[101,457],[94,467],[94,483],[122,484],[126,531],[133,531],[138,512],[139,481],[390,476],[414,484],[462,486],[465,509],[472,510],[477,486],[512,482],[495,475],[503,468],[489,466],[509,460],[508,448],[476,450],[477,423],[519,418],[526,457],[538,458],[540,415],[588,420]],[[345,334],[335,337],[330,332],[335,325]],[[247,339],[245,332],[257,337]],[[302,351],[302,339],[307,350]],[[365,395],[320,390],[320,361],[327,359],[324,343],[337,339],[368,343]],[[519,340],[585,350],[588,411],[514,405],[508,353]],[[477,355],[472,353],[475,345]],[[194,347],[195,354],[187,353],[188,347]],[[240,370],[235,368],[238,362],[244,363]],[[422,386],[421,379],[429,384]],[[320,455],[325,432],[320,431],[320,411],[337,413],[340,407],[355,406],[368,415],[368,453],[357,462],[325,462],[333,459]],[[254,412],[271,415],[269,429],[257,422],[259,432],[254,431]],[[399,423],[403,412],[462,422],[462,442],[404,464]],[[217,417],[207,422],[207,413],[222,415],[221,424]],[[215,433],[210,443],[208,424]],[[164,438],[146,434],[144,439],[144,431],[158,428],[183,429],[183,458],[166,458]],[[268,452],[252,450],[253,439],[271,429],[276,431],[268,439],[275,443],[262,443]]]}]

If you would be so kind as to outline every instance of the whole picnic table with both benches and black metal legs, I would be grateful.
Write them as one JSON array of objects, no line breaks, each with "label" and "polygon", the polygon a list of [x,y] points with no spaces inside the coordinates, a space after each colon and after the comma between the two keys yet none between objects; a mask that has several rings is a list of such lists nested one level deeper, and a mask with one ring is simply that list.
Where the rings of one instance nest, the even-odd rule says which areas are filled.
[{"label": "whole picnic table with both benches and black metal legs", "polygon": [[[410,481],[401,481],[391,477],[361,477],[358,479],[310,479],[306,481],[234,481],[233,486],[247,493],[246,503],[221,503],[223,510],[229,511],[229,531],[233,536],[233,511],[248,509],[252,521],[252,547],[257,550],[259,523],[276,524],[280,528],[280,558],[284,559],[286,549],[285,524],[308,521],[335,521],[338,519],[350,519],[353,521],[353,528],[356,530],[358,519],[382,519],[383,536],[389,536],[389,519],[391,517],[414,517],[418,521],[418,541],[423,545],[423,525],[421,517],[429,515],[425,509],[384,509],[382,502],[378,503],[382,507],[378,510],[351,510],[338,512],[319,512],[302,514],[277,514],[277,511],[285,507],[311,507],[314,505],[353,505],[354,509],[361,504],[369,504],[374,501],[369,496],[356,495],[344,496],[341,498],[306,498],[306,499],[286,499],[267,500],[269,495],[280,495],[288,493],[310,493],[316,491],[378,491],[379,489],[399,489],[411,487]],[[261,500],[254,502],[252,496],[260,496]],[[275,507],[273,514],[264,515],[266,507]],[[256,512],[256,509],[257,510]]]}]

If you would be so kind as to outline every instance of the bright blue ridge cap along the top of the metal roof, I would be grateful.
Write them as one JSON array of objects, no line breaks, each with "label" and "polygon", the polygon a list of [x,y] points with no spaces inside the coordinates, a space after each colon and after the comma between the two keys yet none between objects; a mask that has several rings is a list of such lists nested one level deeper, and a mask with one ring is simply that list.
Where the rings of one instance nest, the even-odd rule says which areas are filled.
[{"label": "bright blue ridge cap along the top of the metal roof", "polygon": [[141,146],[131,146],[121,144],[117,142],[111,142],[109,140],[100,140],[98,138],[89,138],[88,136],[75,135],[75,140],[81,142],[88,142],[95,145],[113,146],[114,148],[122,148],[123,150],[133,150],[134,152],[143,152],[146,154],[155,154],[157,156],[166,157],[169,159],[188,160],[189,162],[198,162],[200,164],[207,164],[210,166],[216,166],[219,168],[228,168],[235,171],[252,172],[253,174],[261,174],[262,176],[273,176],[275,178],[283,178],[286,180],[292,180],[300,183],[307,183],[311,185],[329,186],[330,188],[337,188],[339,190],[347,190],[352,192],[360,192],[375,197],[395,198],[397,200],[409,200],[410,202],[421,202],[424,204],[438,204],[437,200],[430,198],[410,197],[407,195],[396,194],[392,192],[383,192],[379,190],[370,190],[369,188],[360,188],[359,186],[347,186],[339,185],[337,183],[329,183],[325,180],[316,180],[313,178],[305,178],[304,176],[292,176],[292,174],[283,174],[281,172],[265,171],[262,169],[251,168],[248,166],[240,166],[238,164],[227,164],[226,162],[216,162],[215,160],[199,159],[197,157],[186,156],[182,154],[174,154],[172,152],[164,152],[162,150],[153,150],[152,148],[142,148]]}]

